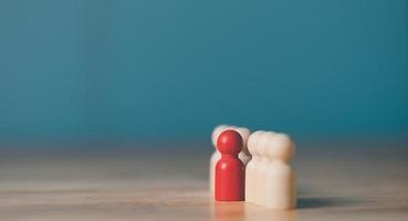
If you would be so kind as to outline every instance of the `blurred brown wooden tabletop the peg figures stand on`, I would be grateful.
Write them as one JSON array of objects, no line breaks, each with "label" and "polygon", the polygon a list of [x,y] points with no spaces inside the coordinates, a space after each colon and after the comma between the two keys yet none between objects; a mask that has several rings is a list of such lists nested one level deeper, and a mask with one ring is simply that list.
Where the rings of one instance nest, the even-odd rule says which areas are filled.
[{"label": "blurred brown wooden tabletop the peg figures stand on", "polygon": [[215,203],[210,144],[11,147],[0,156],[0,220],[408,220],[408,143],[303,141],[299,208]]}]

